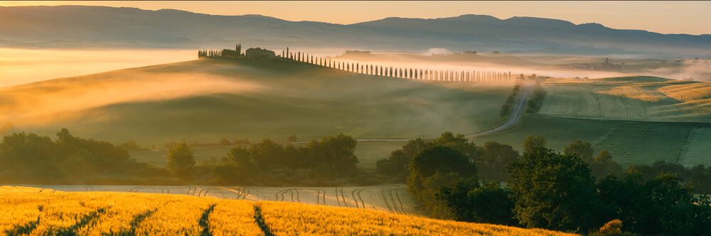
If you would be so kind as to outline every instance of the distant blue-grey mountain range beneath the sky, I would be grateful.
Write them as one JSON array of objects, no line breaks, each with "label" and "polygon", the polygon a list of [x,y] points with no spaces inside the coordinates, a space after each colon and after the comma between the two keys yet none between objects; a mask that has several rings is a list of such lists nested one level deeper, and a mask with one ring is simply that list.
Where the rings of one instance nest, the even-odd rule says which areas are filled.
[{"label": "distant blue-grey mountain range beneath the sky", "polygon": [[[278,16],[277,16],[278,17]],[[0,7],[0,47],[206,48],[245,45],[363,50],[428,48],[575,55],[711,57],[711,35],[618,30],[548,18],[463,15],[351,25],[106,6]],[[699,22],[702,23],[702,22]]]}]

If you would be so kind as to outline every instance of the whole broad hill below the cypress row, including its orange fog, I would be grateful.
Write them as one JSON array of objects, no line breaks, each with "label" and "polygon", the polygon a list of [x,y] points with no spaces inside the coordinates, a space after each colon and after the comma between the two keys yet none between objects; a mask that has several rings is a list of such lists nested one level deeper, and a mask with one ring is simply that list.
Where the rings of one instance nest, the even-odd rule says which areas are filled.
[{"label": "whole broad hill below the cypress row, including its orange fog", "polygon": [[293,62],[194,60],[0,89],[0,124],[6,132],[51,135],[65,127],[156,145],[336,133],[409,139],[496,125],[511,86],[420,82]]}]

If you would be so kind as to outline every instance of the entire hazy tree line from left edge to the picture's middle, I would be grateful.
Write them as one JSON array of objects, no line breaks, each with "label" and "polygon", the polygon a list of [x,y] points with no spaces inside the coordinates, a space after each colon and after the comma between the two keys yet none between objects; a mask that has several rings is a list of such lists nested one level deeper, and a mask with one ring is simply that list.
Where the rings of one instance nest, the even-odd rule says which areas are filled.
[{"label": "entire hazy tree line from left edge to the picture's middle", "polygon": [[[294,137],[295,138],[295,137]],[[225,141],[226,139],[223,139]],[[242,144],[229,142],[230,144]],[[248,141],[246,141],[249,143]],[[224,142],[227,145],[228,142]],[[75,137],[68,130],[55,140],[14,133],[0,142],[0,181],[16,184],[287,184],[338,185],[380,181],[359,170],[356,140],[335,135],[311,140],[304,147],[272,140],[235,145],[221,159],[197,163],[192,145],[169,142],[167,166],[155,167],[129,157],[142,149],[134,141],[120,145]]]}]

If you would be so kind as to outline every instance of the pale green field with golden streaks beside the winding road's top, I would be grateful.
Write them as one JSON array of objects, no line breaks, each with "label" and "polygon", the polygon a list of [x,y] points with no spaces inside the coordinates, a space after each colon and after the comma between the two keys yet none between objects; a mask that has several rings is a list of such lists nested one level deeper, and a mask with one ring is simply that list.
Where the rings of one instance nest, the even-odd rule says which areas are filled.
[{"label": "pale green field with golden streaks beside the winding road's top", "polygon": [[539,113],[617,120],[711,121],[711,84],[658,77],[547,80]]}]

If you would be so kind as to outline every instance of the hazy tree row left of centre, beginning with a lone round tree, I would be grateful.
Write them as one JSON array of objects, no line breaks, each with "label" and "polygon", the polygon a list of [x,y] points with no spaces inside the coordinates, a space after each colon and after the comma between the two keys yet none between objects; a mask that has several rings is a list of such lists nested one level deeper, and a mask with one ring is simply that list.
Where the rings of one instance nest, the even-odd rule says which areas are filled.
[{"label": "hazy tree row left of centre, beginning with a lone round tree", "polygon": [[356,144],[353,137],[343,134],[311,140],[305,147],[267,139],[249,147],[232,147],[222,159],[198,166],[191,147],[178,143],[170,147],[168,169],[184,181],[198,178],[211,184],[328,185],[328,181],[360,174]]}]

